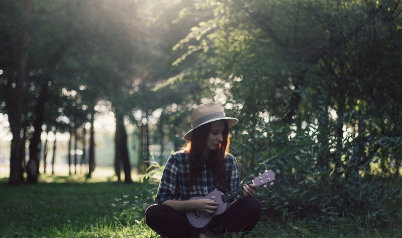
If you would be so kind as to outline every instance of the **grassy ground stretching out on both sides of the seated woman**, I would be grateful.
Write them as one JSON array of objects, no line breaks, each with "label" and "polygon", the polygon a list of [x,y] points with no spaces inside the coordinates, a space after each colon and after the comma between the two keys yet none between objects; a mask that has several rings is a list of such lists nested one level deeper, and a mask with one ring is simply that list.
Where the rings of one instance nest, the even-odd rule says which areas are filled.
[{"label": "grassy ground stretching out on both sides of the seated woman", "polygon": [[[0,178],[0,237],[159,237],[142,220],[154,184],[42,176],[9,187]],[[264,214],[248,237],[402,237],[402,227],[364,219],[277,221]]]}]

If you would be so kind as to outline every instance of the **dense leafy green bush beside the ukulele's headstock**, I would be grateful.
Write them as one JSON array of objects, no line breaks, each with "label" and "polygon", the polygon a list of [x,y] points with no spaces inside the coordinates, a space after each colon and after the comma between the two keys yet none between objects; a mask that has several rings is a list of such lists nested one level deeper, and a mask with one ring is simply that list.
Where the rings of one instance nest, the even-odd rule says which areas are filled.
[{"label": "dense leafy green bush beside the ukulele's headstock", "polygon": [[[265,170],[260,163],[275,173],[273,185],[258,190],[270,215],[281,219],[364,217],[369,225],[401,220],[397,205],[402,201],[400,179],[374,175],[367,163],[353,168],[358,160],[357,142],[331,152],[331,146],[320,143],[318,126],[307,126],[295,134],[291,128],[270,123],[257,134],[250,130],[231,141],[233,153],[242,155],[238,159],[246,180]],[[375,158],[369,160],[372,162]]]}]

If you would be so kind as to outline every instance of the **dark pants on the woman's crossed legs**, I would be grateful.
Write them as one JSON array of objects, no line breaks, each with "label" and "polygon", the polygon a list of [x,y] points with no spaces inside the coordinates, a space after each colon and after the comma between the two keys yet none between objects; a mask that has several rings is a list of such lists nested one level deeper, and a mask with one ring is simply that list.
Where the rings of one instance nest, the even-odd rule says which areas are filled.
[{"label": "dark pants on the woman's crossed legs", "polygon": [[[226,232],[248,233],[261,216],[261,202],[254,197],[244,197],[233,203],[224,213],[214,216],[207,225],[214,235]],[[167,205],[151,205],[145,211],[147,225],[167,237],[197,237],[202,231],[192,226],[184,212]]]}]

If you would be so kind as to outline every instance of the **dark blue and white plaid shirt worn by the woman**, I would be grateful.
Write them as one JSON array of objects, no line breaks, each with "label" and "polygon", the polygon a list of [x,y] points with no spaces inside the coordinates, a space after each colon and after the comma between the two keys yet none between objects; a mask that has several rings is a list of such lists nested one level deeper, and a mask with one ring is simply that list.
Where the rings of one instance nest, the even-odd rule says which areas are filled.
[{"label": "dark blue and white plaid shirt worn by the woman", "polygon": [[[236,159],[233,155],[227,154],[225,157],[226,186],[223,193],[227,193],[240,186],[239,170]],[[163,170],[155,203],[162,204],[170,200],[188,200],[192,197],[206,196],[217,187],[214,185],[213,173],[206,167],[202,173],[196,177],[193,191],[188,187],[189,163],[188,154],[179,151],[170,156]]]}]

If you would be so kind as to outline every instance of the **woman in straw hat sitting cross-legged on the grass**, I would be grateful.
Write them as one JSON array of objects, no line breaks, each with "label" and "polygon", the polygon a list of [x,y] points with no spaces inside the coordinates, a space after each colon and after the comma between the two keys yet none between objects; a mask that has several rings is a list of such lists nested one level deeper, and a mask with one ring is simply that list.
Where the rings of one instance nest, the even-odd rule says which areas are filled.
[{"label": "woman in straw hat sitting cross-legged on the grass", "polygon": [[[193,129],[184,135],[183,150],[170,156],[155,197],[156,204],[145,211],[149,227],[167,237],[206,237],[226,232],[236,237],[248,233],[258,222],[261,203],[253,197],[255,185],[243,186],[225,212],[218,209],[217,199],[204,197],[214,190],[230,192],[240,186],[238,165],[228,153],[229,128],[238,122],[226,117],[217,103],[199,105],[191,114]],[[186,212],[202,212],[211,221],[197,228],[190,223]],[[195,215],[195,214],[194,214]]]}]

